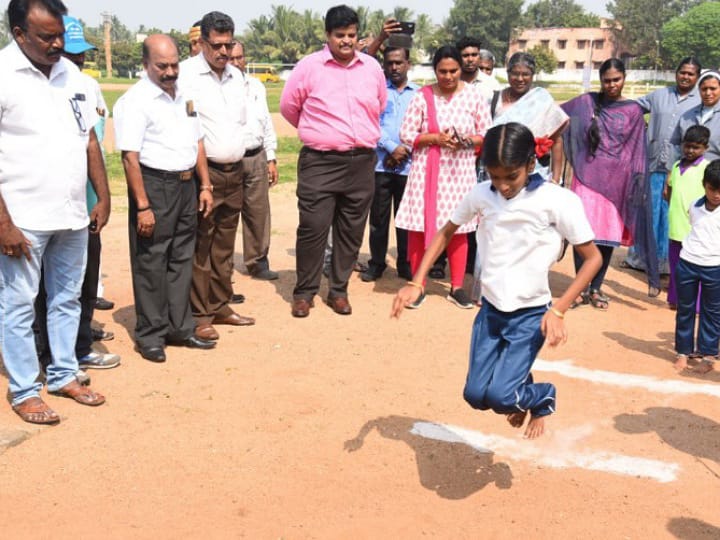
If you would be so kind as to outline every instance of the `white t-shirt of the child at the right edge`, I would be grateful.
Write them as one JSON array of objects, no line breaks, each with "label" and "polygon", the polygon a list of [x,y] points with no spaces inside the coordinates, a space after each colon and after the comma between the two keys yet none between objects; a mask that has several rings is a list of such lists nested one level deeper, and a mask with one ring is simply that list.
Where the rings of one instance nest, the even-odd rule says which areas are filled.
[{"label": "white t-shirt of the child at the right edge", "polygon": [[702,197],[690,206],[689,214],[692,228],[680,258],[698,266],[720,266],[720,208],[710,212]]}]

